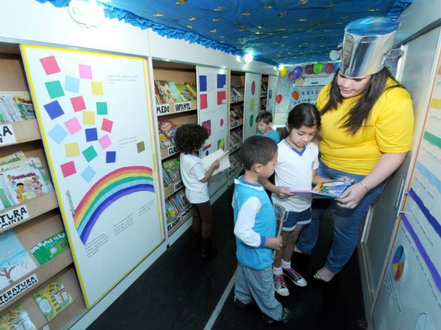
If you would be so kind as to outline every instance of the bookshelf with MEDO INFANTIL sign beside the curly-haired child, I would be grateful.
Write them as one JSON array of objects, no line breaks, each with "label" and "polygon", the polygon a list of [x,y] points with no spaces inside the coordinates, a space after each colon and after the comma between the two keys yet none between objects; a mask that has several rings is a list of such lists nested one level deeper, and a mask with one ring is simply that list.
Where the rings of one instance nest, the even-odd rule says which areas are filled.
[{"label": "bookshelf with MEDO INFANTIL sign beside the curly-haired child", "polygon": [[[174,82],[174,84],[194,82],[193,85],[196,87],[195,65],[152,60],[152,67],[154,81],[151,86],[155,89],[152,91],[154,95],[157,94],[158,82],[163,84],[164,82]],[[156,109],[156,136],[158,136],[161,154],[161,182],[164,193],[163,216],[166,219],[166,230],[170,236],[192,215],[191,205],[182,203],[184,183],[180,179],[179,150],[174,145],[173,128],[186,123],[198,123],[197,99],[176,102],[166,99],[164,103],[161,103],[155,97],[153,102],[154,109]],[[160,133],[162,133],[161,137]],[[166,144],[161,143],[164,135],[168,140]],[[167,170],[170,168],[174,168],[174,172],[168,172]]]}]

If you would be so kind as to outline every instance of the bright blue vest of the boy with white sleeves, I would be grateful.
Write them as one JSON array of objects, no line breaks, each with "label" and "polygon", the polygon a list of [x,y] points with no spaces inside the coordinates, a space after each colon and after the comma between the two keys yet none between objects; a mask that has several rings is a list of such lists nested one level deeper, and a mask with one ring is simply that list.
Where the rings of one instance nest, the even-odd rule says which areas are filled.
[{"label": "bright blue vest of the boy with white sleeves", "polygon": [[[255,216],[255,224],[253,231],[265,238],[276,236],[276,219],[275,211],[272,207],[270,197],[268,197],[265,189],[258,190],[248,185],[239,177],[240,183],[236,183],[233,195],[234,223],[238,219],[240,208],[250,197],[257,197],[262,203],[262,208]],[[237,245],[236,256],[243,265],[256,270],[262,270],[269,267],[274,262],[272,259],[272,249],[265,247],[248,246],[235,238]]]}]

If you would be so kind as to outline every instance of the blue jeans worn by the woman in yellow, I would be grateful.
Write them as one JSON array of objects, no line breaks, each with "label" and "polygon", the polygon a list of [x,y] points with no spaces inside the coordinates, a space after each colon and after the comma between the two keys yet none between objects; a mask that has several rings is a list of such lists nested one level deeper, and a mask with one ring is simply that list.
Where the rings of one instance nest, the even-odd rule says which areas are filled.
[{"label": "blue jeans worn by the woman in yellow", "polygon": [[[320,162],[317,174],[329,179],[339,179],[341,177],[349,177],[349,180],[360,182],[365,175],[356,175],[348,172],[333,170]],[[312,249],[317,243],[319,237],[319,220],[320,216],[330,206],[332,219],[334,220],[334,237],[332,239],[331,250],[326,257],[325,268],[331,273],[339,273],[341,268],[351,258],[352,253],[358,242],[358,227],[368,208],[384,189],[386,180],[380,185],[369,190],[369,192],[361,199],[360,203],[354,209],[345,209],[339,207],[333,199],[313,199],[312,200],[312,221],[303,227],[300,232],[297,248],[303,253],[311,254]]]}]

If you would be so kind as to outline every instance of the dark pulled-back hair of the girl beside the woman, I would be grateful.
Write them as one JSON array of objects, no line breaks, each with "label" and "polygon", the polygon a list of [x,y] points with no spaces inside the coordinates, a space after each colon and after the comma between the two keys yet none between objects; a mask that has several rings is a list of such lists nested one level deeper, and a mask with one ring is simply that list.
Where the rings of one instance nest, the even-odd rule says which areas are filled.
[{"label": "dark pulled-back hair of the girl beside the woman", "polygon": [[314,104],[300,103],[294,106],[289,111],[287,118],[287,128],[280,133],[280,140],[289,136],[289,132],[294,128],[301,128],[302,126],[312,127],[316,126],[317,131],[322,127],[319,110]]}]

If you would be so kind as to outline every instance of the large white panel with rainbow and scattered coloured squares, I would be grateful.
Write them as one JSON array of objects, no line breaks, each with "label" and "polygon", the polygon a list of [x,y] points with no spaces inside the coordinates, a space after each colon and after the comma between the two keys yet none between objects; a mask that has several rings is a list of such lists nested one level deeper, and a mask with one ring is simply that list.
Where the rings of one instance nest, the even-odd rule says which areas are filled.
[{"label": "large white panel with rainbow and scattered coloured squares", "polygon": [[21,45],[88,308],[164,241],[140,57]]}]

